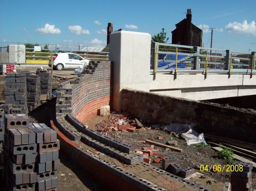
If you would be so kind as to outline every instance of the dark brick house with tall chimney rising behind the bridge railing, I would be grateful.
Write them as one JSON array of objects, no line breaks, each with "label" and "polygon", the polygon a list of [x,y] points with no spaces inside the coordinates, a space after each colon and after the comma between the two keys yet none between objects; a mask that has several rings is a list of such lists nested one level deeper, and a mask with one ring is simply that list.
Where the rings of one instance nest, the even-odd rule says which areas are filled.
[{"label": "dark brick house with tall chimney rising behind the bridge railing", "polygon": [[191,21],[191,9],[187,9],[186,18],[175,24],[176,29],[172,31],[172,44],[201,46],[202,30]]}]

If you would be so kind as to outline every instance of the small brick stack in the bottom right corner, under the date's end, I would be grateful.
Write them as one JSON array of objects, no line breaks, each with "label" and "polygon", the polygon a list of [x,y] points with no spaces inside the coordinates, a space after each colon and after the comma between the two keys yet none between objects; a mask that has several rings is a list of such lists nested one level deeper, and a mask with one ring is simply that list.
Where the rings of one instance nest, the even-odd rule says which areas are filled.
[{"label": "small brick stack in the bottom right corner, under the date's end", "polygon": [[234,162],[234,171],[231,172],[231,191],[252,191],[252,163]]}]

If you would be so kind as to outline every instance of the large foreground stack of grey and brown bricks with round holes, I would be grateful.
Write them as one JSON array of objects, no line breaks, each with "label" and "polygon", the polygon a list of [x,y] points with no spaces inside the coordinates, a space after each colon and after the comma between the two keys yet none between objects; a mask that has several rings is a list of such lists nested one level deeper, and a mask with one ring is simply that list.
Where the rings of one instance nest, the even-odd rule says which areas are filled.
[{"label": "large foreground stack of grey and brown bricks with round holes", "polygon": [[29,124],[24,114],[5,115],[6,190],[57,190],[60,143],[45,124]]}]

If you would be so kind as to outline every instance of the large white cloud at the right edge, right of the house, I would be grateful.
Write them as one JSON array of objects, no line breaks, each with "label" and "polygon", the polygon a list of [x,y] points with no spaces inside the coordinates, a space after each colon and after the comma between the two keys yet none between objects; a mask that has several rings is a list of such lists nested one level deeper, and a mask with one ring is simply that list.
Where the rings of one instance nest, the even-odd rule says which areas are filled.
[{"label": "large white cloud at the right edge, right of the house", "polygon": [[229,33],[253,34],[256,36],[256,25],[254,21],[247,23],[247,20],[244,20],[243,23],[229,23],[225,26],[225,28]]}]

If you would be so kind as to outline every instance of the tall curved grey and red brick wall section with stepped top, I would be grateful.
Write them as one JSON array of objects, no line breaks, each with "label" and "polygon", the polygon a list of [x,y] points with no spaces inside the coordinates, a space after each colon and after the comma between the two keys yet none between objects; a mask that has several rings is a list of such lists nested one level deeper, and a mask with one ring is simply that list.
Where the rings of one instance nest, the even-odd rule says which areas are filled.
[{"label": "tall curved grey and red brick wall section with stepped top", "polygon": [[108,61],[92,62],[86,70],[87,74],[61,83],[56,101],[57,116],[72,113],[85,123],[99,112],[101,106],[111,106],[112,65]]}]

